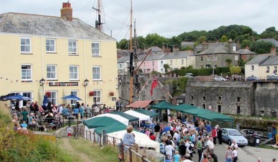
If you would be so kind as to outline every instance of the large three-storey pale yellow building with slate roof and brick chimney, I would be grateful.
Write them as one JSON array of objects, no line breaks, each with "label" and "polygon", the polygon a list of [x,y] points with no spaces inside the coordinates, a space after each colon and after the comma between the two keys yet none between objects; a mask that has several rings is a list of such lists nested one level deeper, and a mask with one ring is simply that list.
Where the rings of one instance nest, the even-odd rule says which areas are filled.
[{"label": "large three-storey pale yellow building with slate roof and brick chimney", "polygon": [[[4,13],[0,22],[0,95],[21,94],[41,104],[50,94],[48,99],[60,104],[75,103],[61,99],[72,94],[90,106],[115,106],[116,40],[72,18],[70,3],[63,3],[61,17]],[[0,106],[4,103],[10,104]]]}]

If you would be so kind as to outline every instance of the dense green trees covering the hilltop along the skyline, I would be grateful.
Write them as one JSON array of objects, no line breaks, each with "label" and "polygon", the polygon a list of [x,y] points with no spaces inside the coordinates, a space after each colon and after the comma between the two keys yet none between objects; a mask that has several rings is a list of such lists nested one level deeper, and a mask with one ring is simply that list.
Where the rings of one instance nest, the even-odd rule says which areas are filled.
[{"label": "dense green trees covering the hilltop along the skyline", "polygon": [[[194,30],[190,32],[183,32],[178,36],[173,36],[172,38],[165,38],[157,33],[147,34],[146,37],[138,36],[137,37],[137,46],[141,49],[158,46],[162,48],[163,45],[166,47],[174,46],[180,47],[182,41],[195,42],[195,46],[203,42],[226,42],[229,39],[232,39],[233,42],[239,43],[242,48],[245,48],[246,45],[249,47],[255,43],[255,40],[259,38],[274,38],[278,40],[278,31],[275,27],[269,27],[261,34],[253,31],[249,26],[243,25],[229,25],[229,26],[220,26],[214,30]],[[133,38],[134,39],[134,38]],[[252,42],[253,41],[253,42]],[[128,49],[129,40],[122,39],[120,42],[117,42],[117,48],[119,49]],[[255,46],[255,45],[254,45]],[[264,48],[263,46],[262,48]],[[251,51],[254,48],[251,48]],[[181,51],[192,50],[192,47],[182,48]],[[255,50],[255,49],[254,49]],[[270,50],[270,48],[269,48]],[[254,52],[259,51],[255,50]],[[265,51],[265,49],[263,50]],[[262,52],[263,52],[262,51]],[[260,53],[261,51],[259,51]],[[258,53],[258,52],[256,52]]]}]

